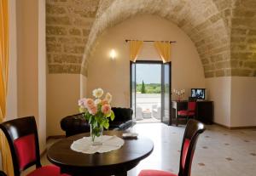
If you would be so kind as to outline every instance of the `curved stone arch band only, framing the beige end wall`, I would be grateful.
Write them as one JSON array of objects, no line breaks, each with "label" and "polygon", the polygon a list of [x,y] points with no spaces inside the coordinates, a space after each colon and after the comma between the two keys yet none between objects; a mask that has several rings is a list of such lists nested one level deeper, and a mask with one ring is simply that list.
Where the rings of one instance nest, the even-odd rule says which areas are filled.
[{"label": "curved stone arch band only, framing the beige end wall", "polygon": [[103,31],[137,14],[156,14],[172,21],[195,43],[205,77],[227,76],[230,71],[230,30],[223,12],[230,8],[228,5],[224,8],[212,0],[110,0],[102,3],[84,50],[82,74],[86,72],[90,54]]}]

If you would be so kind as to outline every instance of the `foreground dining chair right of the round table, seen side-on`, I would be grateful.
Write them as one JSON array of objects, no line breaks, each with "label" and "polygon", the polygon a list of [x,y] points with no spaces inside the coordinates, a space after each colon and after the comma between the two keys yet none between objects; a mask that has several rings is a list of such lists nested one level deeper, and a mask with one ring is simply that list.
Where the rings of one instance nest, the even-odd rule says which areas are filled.
[{"label": "foreground dining chair right of the round table, seen side-on", "polygon": [[204,131],[205,127],[201,122],[189,119],[183,135],[183,145],[181,148],[182,152],[180,154],[178,174],[160,170],[142,170],[138,176],[190,176],[197,139]]}]

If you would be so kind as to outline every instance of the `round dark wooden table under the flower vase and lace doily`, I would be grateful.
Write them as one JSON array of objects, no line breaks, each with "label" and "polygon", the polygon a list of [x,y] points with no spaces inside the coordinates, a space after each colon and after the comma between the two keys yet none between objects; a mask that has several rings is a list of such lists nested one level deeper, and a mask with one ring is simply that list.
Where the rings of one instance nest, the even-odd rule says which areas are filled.
[{"label": "round dark wooden table under the flower vase and lace doily", "polygon": [[[122,136],[120,131],[106,131],[104,134]],[[154,149],[153,142],[141,136],[125,139],[125,145],[119,150],[106,153],[84,154],[70,149],[74,140],[89,135],[81,133],[56,142],[47,151],[49,162],[61,167],[61,173],[76,176],[127,175],[128,170],[136,167]]]}]

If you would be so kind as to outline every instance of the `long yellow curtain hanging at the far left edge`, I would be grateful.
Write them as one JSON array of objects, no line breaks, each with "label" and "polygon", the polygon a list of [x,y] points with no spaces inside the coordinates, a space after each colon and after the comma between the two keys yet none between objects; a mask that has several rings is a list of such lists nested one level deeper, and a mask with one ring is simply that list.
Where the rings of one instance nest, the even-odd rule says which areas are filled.
[{"label": "long yellow curtain hanging at the far left edge", "polygon": [[[3,122],[6,113],[6,98],[9,72],[9,1],[0,0],[0,122]],[[8,176],[14,175],[12,158],[8,141],[0,131],[0,150],[2,155],[3,171]]]}]

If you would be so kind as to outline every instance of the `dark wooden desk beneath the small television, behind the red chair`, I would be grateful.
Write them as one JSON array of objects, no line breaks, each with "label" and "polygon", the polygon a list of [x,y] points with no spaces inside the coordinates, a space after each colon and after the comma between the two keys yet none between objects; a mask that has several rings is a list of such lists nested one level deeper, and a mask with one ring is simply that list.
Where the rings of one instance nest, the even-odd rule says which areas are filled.
[{"label": "dark wooden desk beneath the small television, behind the red chair", "polygon": [[[175,111],[175,113],[172,113],[172,118],[177,118],[177,111],[188,109],[188,100],[172,101],[172,109]],[[206,124],[212,124],[213,101],[197,101],[195,119]]]}]

